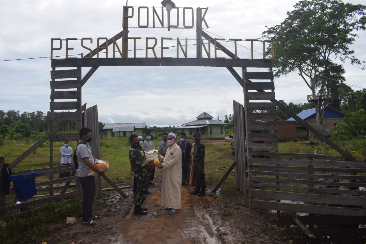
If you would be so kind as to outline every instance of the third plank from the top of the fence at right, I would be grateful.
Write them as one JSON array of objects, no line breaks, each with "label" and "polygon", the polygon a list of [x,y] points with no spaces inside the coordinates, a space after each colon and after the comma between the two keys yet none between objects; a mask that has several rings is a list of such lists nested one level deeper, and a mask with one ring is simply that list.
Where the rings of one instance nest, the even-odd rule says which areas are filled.
[{"label": "third plank from the top of the fence at right", "polygon": [[[249,169],[261,169],[261,170],[277,170],[277,171],[307,171],[307,167],[294,167],[294,166],[272,166],[265,164],[249,164]],[[366,173],[366,169],[345,169],[345,168],[320,168],[313,167],[314,172],[333,172],[333,173]],[[366,192],[366,191],[365,191]]]}]

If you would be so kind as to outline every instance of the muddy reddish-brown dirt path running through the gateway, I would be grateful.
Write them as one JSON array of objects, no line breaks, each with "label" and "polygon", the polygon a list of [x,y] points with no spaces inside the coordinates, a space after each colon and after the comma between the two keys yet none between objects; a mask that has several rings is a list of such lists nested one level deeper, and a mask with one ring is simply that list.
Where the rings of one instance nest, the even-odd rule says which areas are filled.
[{"label": "muddy reddish-brown dirt path running through the gateway", "polygon": [[282,243],[269,222],[272,215],[242,199],[198,197],[182,186],[182,212],[170,215],[160,206],[160,177],[154,182],[144,204],[147,215],[133,215],[132,189],[124,189],[126,199],[111,191],[96,226],[54,226],[46,243]]}]

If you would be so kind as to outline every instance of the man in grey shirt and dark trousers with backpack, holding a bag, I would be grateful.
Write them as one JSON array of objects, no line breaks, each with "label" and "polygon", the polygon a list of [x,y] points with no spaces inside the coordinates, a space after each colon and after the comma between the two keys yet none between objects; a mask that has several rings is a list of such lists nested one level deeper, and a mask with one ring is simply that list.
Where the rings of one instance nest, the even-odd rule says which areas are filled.
[{"label": "man in grey shirt and dark trousers with backpack, holding a bag", "polygon": [[96,225],[95,219],[100,216],[93,215],[93,199],[94,199],[94,176],[88,176],[89,170],[93,170],[98,175],[104,174],[94,165],[93,152],[89,146],[91,141],[91,130],[89,128],[82,128],[79,132],[80,141],[76,148],[76,156],[78,157],[79,167],[76,170],[79,181],[83,188],[83,225]]}]

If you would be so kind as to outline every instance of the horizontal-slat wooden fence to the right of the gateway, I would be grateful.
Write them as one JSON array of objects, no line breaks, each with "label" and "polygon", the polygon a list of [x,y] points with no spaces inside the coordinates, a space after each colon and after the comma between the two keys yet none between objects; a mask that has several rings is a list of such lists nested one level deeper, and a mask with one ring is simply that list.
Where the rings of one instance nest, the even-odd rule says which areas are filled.
[{"label": "horizontal-slat wooden fence to the right of the gateway", "polygon": [[255,158],[248,159],[250,207],[366,216],[366,191],[359,189],[366,185],[366,162],[335,161],[317,154],[252,155]]}]

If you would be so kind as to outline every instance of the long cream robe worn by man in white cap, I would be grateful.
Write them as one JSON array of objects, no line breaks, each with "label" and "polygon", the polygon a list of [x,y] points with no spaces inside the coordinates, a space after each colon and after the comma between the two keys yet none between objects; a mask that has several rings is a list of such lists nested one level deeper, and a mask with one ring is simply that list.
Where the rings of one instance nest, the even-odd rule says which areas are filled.
[{"label": "long cream robe worn by man in white cap", "polygon": [[182,151],[176,143],[168,148],[162,165],[161,206],[180,209],[182,202]]}]

